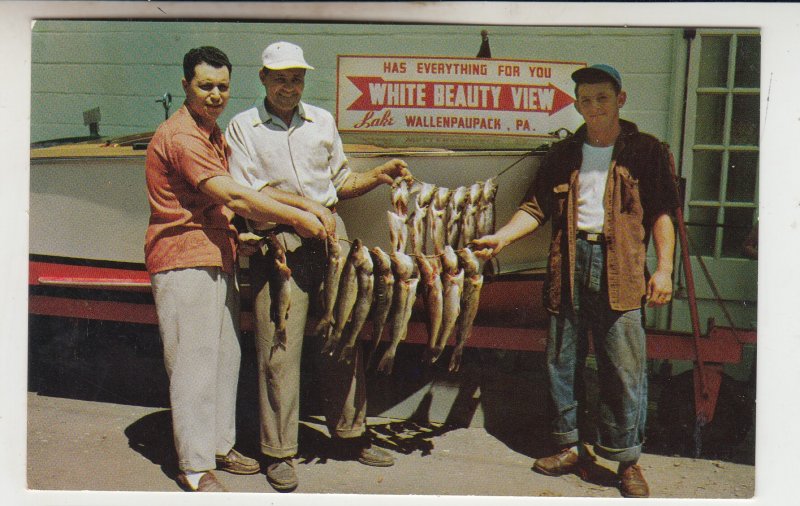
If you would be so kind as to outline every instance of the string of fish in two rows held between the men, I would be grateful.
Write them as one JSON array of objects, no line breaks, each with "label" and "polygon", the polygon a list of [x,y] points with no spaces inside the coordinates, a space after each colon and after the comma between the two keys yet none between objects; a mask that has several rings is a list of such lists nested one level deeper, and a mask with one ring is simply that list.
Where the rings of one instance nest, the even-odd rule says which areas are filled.
[{"label": "string of fish in two rows held between the men", "polygon": [[[338,352],[339,360],[352,361],[359,334],[370,318],[367,367],[377,361],[379,372],[391,374],[420,287],[429,336],[423,359],[429,364],[436,362],[455,334],[448,369],[458,371],[483,286],[482,264],[466,246],[475,237],[494,231],[497,179],[525,156],[484,182],[453,191],[419,181],[411,188],[406,180],[396,179],[391,192],[394,211],[388,211],[390,253],[377,246],[369,249],[355,239],[343,258],[339,242],[351,241],[330,236],[326,241],[323,314],[314,329],[323,339],[322,352]],[[409,214],[412,194],[416,194],[416,207]],[[409,229],[411,254],[406,253]],[[433,245],[432,255],[427,254],[427,237]],[[464,247],[459,249],[459,244]],[[387,327],[389,345],[379,353]]]}]

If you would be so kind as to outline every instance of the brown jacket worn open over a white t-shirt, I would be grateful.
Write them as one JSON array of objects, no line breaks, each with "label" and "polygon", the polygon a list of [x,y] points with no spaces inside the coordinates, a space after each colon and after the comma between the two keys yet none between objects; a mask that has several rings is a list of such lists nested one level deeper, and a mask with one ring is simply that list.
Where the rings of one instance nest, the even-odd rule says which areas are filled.
[{"label": "brown jacket worn open over a white t-shirt", "polygon": [[[662,214],[672,214],[679,199],[667,145],[639,132],[634,123],[621,120],[620,124],[603,198],[603,234],[609,304],[615,311],[629,311],[640,308],[644,299],[652,224]],[[552,221],[544,294],[551,313],[560,311],[562,290],[570,294],[574,290],[577,182],[585,140],[583,125],[575,135],[554,144],[519,206],[539,224]]]}]

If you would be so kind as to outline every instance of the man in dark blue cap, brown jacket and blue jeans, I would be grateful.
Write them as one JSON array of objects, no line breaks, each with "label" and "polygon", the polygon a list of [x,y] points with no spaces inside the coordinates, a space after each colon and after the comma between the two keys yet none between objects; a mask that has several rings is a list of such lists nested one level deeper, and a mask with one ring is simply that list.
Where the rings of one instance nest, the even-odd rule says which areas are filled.
[{"label": "man in dark blue cap, brown jacket and blue jeans", "polygon": [[[643,305],[672,296],[675,230],[679,205],[665,144],[620,119],[627,99],[610,65],[572,74],[575,107],[585,120],[575,135],[549,150],[533,185],[511,220],[496,234],[475,241],[488,259],[550,219],[553,228],[545,303],[550,317],[547,372],[558,452],[537,459],[536,472],[583,474],[593,459],[583,444],[583,375],[588,332],[594,340],[600,383],[594,449],[619,462],[620,491],[647,497],[637,465],[647,415],[647,348]],[[656,269],[645,259],[652,233]]]}]

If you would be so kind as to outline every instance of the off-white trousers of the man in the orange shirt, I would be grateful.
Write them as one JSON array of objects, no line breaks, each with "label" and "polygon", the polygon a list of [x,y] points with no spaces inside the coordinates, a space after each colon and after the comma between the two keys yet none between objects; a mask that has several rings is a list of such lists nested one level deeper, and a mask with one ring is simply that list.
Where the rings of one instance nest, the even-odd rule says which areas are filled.
[{"label": "off-white trousers of the man in the orange shirt", "polygon": [[216,467],[236,440],[239,292],[219,268],[150,277],[169,377],[173,437],[182,471]]}]

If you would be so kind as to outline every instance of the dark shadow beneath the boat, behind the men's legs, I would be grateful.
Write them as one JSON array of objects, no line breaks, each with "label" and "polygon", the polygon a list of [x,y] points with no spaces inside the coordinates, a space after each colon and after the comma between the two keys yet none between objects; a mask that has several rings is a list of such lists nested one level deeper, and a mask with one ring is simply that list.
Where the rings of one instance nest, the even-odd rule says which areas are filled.
[{"label": "dark shadow beneath the boat, behind the men's legs", "polygon": [[[126,435],[132,448],[174,477],[177,466],[172,450],[169,388],[158,329],[152,325],[37,316],[31,316],[29,328],[29,391],[165,408],[132,424]],[[252,339],[246,333],[242,340],[237,448],[258,456],[258,385]],[[391,376],[368,371],[368,415],[407,401],[430,388],[434,380],[456,390],[452,406],[444,421],[432,419],[429,392],[413,406],[413,414],[406,420],[372,425],[375,444],[402,454],[428,455],[437,437],[469,426],[480,408],[486,431],[513,451],[532,459],[552,451],[547,443],[549,401],[543,354],[468,348],[461,370],[449,373],[449,351],[430,367],[421,363],[423,348],[401,345]],[[318,417],[319,378],[308,353],[304,351],[301,377],[299,457],[306,462],[324,462],[328,458],[328,436]],[[588,377],[588,395],[593,398],[596,385],[591,381],[591,371]],[[653,371],[645,451],[754,464],[755,382],[724,376],[715,418],[702,429],[694,424],[692,388],[691,372],[665,377]]]}]

